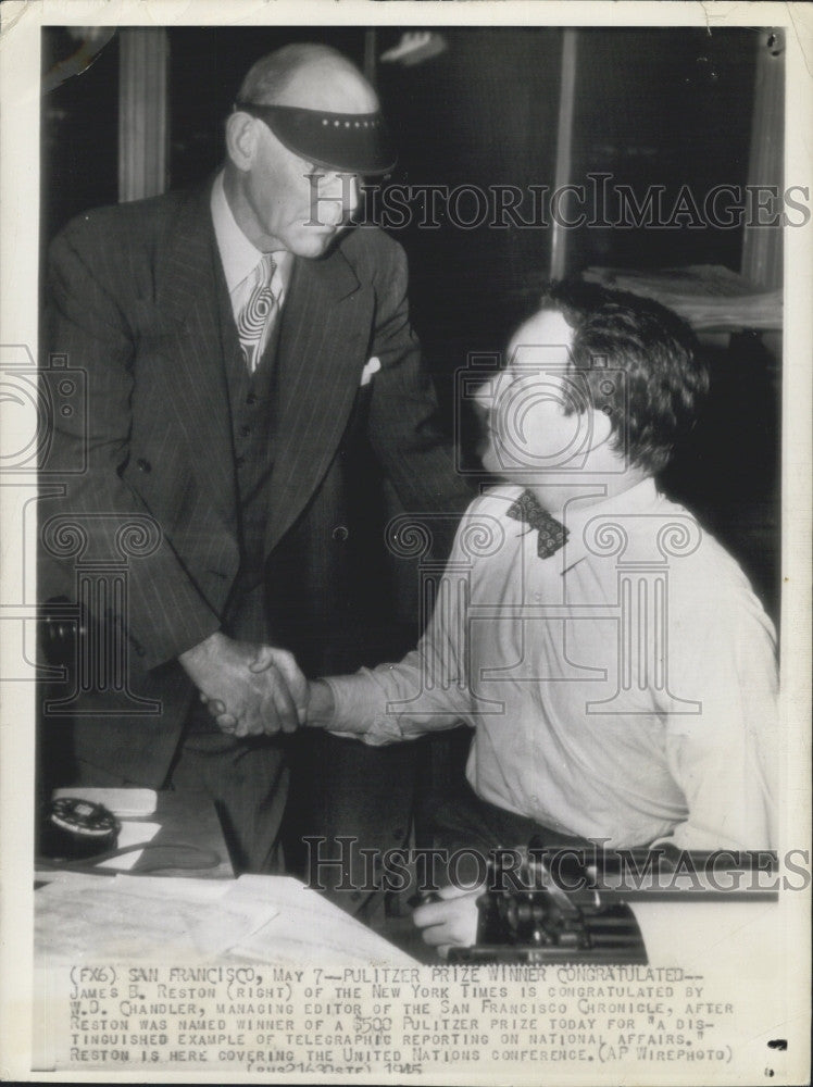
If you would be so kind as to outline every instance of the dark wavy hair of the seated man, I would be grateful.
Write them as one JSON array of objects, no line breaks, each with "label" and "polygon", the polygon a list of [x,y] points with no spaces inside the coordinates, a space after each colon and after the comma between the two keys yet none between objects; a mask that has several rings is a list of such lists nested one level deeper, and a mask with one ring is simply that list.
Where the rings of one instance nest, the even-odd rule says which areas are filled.
[{"label": "dark wavy hair of the seated man", "polygon": [[661,472],[709,391],[689,325],[652,299],[583,280],[550,284],[541,309],[559,310],[573,327],[568,365],[610,416],[612,448],[630,465]]}]

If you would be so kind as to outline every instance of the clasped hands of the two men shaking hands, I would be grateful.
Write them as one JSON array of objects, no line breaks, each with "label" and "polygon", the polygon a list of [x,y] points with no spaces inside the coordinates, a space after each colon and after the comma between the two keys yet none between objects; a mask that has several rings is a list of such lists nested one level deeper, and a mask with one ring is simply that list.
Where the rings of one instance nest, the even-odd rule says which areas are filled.
[{"label": "clasped hands of the two men shaking hands", "polygon": [[308,682],[285,649],[215,632],[178,660],[224,733],[273,736],[304,721]]}]

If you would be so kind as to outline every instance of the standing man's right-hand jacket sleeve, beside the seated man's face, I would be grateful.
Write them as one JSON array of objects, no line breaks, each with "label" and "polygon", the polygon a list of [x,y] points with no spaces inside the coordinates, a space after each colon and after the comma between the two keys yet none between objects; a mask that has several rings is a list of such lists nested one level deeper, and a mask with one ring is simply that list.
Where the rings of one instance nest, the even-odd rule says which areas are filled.
[{"label": "standing man's right-hand jacket sleeve, beside the seated man's face", "polygon": [[389,242],[386,255],[376,276],[371,353],[380,360],[382,370],[373,378],[370,438],[405,509],[449,515],[448,552],[472,491],[456,471],[452,442],[440,427],[435,389],[410,325],[405,254]]}]

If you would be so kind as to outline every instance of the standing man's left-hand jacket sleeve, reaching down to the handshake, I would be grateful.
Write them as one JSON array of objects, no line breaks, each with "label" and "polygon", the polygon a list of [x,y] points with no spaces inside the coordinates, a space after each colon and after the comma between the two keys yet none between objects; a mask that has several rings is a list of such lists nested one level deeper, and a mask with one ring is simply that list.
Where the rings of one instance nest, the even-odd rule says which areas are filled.
[{"label": "standing man's left-hand jacket sleeve, reaching down to the handshake", "polygon": [[[45,478],[64,487],[57,511],[68,514],[79,536],[86,537],[83,562],[121,567],[124,548],[127,595],[121,604],[107,605],[107,617],[124,628],[143,666],[152,669],[203,640],[220,621],[163,526],[122,478],[129,460],[135,339],[110,288],[114,277],[108,261],[121,260],[120,254],[108,255],[115,253],[115,241],[108,238],[103,247],[96,246],[98,239],[89,242],[82,226],[68,227],[51,247],[45,345],[79,371],[86,409],[57,415]],[[65,471],[80,463],[83,472]],[[46,563],[54,558],[63,567],[70,592],[74,570],[65,570],[64,558],[55,554],[59,548],[49,541],[47,524],[41,536]]]}]

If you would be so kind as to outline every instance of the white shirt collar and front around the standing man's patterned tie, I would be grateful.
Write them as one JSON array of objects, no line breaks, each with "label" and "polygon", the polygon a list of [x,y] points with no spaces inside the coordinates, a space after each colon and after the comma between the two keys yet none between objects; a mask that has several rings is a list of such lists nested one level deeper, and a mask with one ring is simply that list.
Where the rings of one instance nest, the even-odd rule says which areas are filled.
[{"label": "white shirt collar and front around the standing man's patterned tie", "polygon": [[[223,186],[223,173],[220,173],[214,179],[211,208],[214,235],[217,239],[217,249],[221,254],[223,271],[226,276],[226,286],[232,301],[232,312],[235,315],[235,321],[237,321],[251,295],[254,285],[254,268],[262,260],[263,253],[257,246],[249,241],[237,225],[237,220],[229,207],[226,190]],[[282,311],[293,267],[293,257],[287,250],[273,251],[272,257],[275,267],[271,280],[271,290],[274,295],[276,305],[265,323],[258,350],[258,358],[262,357],[271,330],[274,327],[274,322]]]}]

